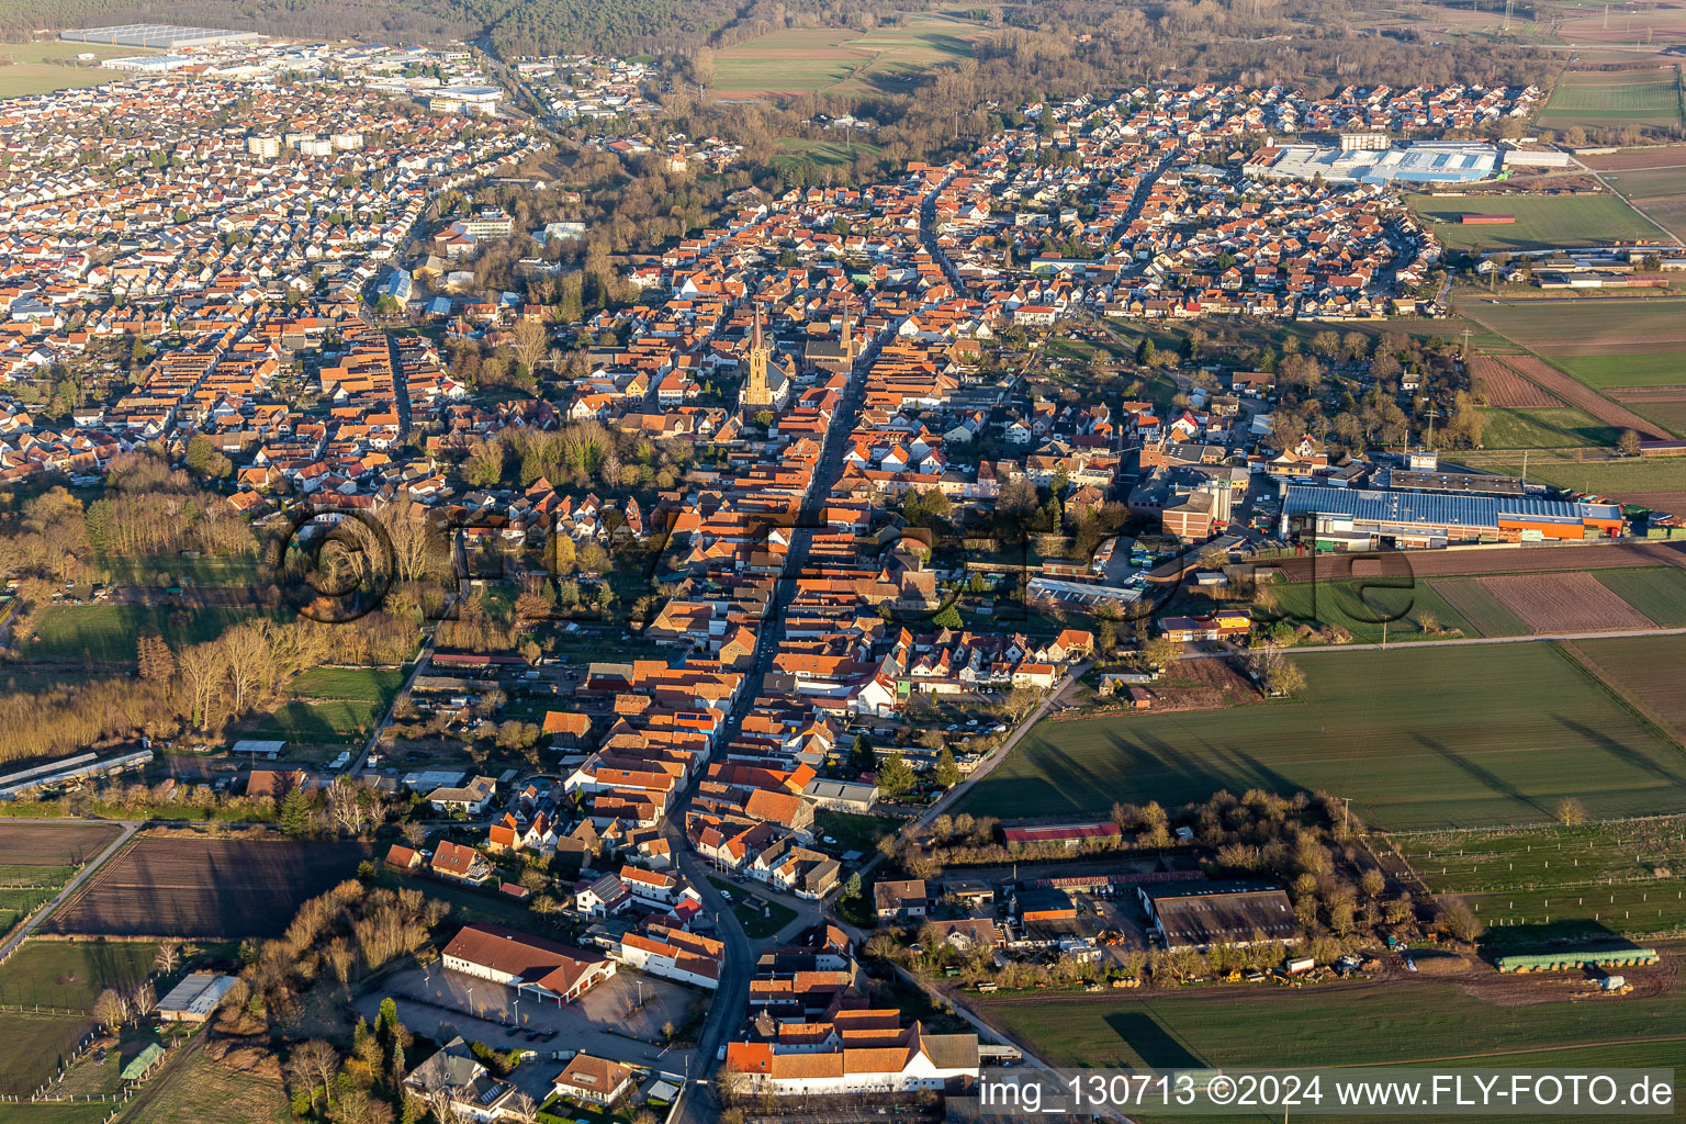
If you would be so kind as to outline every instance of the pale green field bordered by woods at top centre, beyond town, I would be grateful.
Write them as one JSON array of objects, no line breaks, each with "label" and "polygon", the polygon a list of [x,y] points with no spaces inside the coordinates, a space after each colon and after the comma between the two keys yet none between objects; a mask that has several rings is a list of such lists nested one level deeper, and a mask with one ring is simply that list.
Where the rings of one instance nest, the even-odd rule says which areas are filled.
[{"label": "pale green field bordered by woods at top centre, beyond town", "polygon": [[919,71],[971,54],[981,24],[946,15],[904,15],[899,27],[867,34],[843,27],[777,30],[715,59],[722,94],[787,94],[818,89],[870,93],[895,88]]}]

